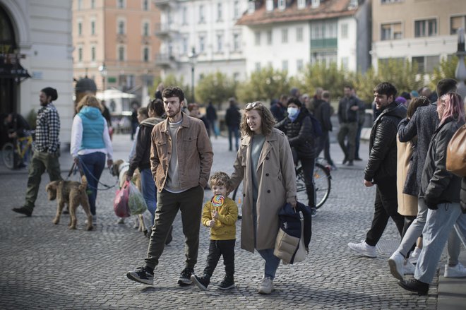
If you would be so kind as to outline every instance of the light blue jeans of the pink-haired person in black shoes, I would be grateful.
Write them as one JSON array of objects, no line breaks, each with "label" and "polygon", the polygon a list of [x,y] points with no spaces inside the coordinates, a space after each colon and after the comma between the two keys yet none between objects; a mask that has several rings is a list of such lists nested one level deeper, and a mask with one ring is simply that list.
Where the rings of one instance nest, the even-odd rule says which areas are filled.
[{"label": "light blue jeans of the pink-haired person in black shoes", "polygon": [[437,210],[427,211],[427,220],[422,230],[422,251],[417,259],[414,278],[430,283],[436,273],[448,236],[456,224],[462,238],[466,237],[466,214],[460,203],[440,203]]}]

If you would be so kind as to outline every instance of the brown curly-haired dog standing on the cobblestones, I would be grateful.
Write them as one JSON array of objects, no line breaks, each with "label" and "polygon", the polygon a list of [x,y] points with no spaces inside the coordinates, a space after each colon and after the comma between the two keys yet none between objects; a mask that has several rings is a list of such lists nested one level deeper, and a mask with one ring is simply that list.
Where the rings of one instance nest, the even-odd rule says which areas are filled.
[{"label": "brown curly-haired dog standing on the cobblestones", "polygon": [[[88,180],[85,176],[81,177],[81,183],[77,181],[52,181],[45,190],[48,193],[49,201],[58,199],[56,205],[56,215],[54,217],[54,224],[60,222],[61,211],[63,210],[65,203],[68,204],[70,212],[70,223],[69,229],[76,229],[76,209],[78,205],[82,205],[85,214],[88,216],[88,225],[85,227],[86,230],[92,230],[92,215],[90,214],[90,206],[88,201],[88,195],[85,193],[85,189],[88,186]],[[58,197],[58,198],[57,198]]]}]

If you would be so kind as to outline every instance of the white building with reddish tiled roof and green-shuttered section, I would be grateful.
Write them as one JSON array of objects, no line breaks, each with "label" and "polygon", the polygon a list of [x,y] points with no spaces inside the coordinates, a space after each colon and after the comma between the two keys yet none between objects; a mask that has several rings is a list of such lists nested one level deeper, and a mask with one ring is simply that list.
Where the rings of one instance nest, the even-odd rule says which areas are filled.
[{"label": "white building with reddish tiled roof and green-shuttered section", "polygon": [[350,71],[370,65],[369,1],[251,1],[239,20],[248,74],[272,66],[295,76],[316,62]]}]

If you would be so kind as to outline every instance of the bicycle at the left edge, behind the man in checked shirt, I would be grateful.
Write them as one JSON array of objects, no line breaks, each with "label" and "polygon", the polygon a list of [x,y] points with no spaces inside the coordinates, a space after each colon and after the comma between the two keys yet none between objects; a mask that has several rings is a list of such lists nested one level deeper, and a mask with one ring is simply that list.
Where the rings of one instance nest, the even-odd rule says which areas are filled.
[{"label": "bicycle at the left edge, behind the man in checked shirt", "polygon": [[35,131],[24,131],[25,136],[15,139],[15,143],[7,142],[1,149],[4,164],[8,169],[16,169],[25,158],[32,158],[34,140],[32,134]]}]

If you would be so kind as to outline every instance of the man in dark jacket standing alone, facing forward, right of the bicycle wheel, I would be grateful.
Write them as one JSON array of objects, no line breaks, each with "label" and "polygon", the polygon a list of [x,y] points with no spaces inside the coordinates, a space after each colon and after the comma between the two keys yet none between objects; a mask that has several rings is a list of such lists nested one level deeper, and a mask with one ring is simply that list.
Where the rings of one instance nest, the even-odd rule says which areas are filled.
[{"label": "man in dark jacket standing alone, facing forward, right of the bicycle wheel", "polygon": [[[338,104],[338,121],[340,131],[338,132],[338,143],[345,153],[342,164],[353,165],[354,149],[356,147],[357,124],[359,119],[359,100],[353,95],[352,86],[343,88],[345,97]],[[345,139],[347,140],[345,143]]]}]

